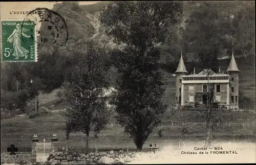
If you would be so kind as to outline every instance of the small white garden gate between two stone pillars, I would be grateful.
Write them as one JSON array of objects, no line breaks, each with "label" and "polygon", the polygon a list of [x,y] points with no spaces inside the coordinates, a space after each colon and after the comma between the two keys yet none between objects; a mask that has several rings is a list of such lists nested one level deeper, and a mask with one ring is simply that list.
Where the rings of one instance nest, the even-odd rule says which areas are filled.
[{"label": "small white garden gate between two stone pillars", "polygon": [[47,161],[49,154],[52,151],[52,144],[46,143],[46,139],[44,138],[43,143],[36,143],[36,161]]}]

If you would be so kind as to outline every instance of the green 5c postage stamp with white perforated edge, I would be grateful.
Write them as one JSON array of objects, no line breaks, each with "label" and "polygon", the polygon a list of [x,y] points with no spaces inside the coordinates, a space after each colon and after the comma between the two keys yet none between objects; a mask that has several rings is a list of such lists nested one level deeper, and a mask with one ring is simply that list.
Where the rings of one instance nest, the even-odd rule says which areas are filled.
[{"label": "green 5c postage stamp with white perforated edge", "polygon": [[35,22],[1,20],[1,61],[36,62]]}]

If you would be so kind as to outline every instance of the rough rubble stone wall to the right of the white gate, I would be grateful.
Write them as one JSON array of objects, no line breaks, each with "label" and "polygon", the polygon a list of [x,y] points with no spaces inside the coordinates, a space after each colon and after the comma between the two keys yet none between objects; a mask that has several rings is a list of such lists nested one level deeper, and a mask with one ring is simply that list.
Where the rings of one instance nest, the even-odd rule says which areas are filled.
[{"label": "rough rubble stone wall to the right of the white gate", "polygon": [[94,152],[89,154],[75,152],[52,152],[46,161],[47,165],[53,164],[123,164],[135,158],[135,152],[109,151]]}]

